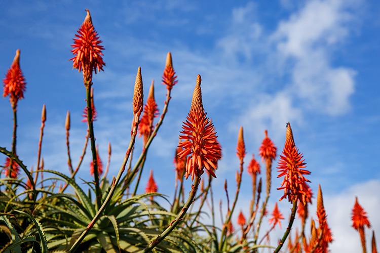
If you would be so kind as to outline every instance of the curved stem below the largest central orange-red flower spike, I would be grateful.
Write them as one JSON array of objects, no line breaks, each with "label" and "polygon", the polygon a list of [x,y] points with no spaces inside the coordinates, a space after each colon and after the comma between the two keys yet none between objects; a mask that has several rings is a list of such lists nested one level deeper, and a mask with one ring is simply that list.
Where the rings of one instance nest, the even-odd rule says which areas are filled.
[{"label": "curved stem below the largest central orange-red flower spike", "polygon": [[196,175],[195,179],[194,179],[194,184],[192,185],[192,190],[191,190],[191,192],[190,192],[190,194],[188,196],[188,199],[187,199],[185,205],[183,206],[181,212],[175,218],[175,220],[173,220],[170,223],[170,226],[164,232],[162,232],[159,236],[157,236],[157,238],[155,240],[151,241],[149,243],[149,245],[146,246],[146,248],[144,248],[143,250],[141,250],[140,253],[150,252],[151,249],[153,249],[154,247],[156,247],[157,244],[159,244],[162,240],[164,240],[165,237],[168,236],[171,233],[171,231],[178,225],[178,223],[183,220],[183,217],[186,214],[187,209],[193,203],[195,194],[196,194],[197,189],[198,189],[199,179],[200,179],[200,176]]}]

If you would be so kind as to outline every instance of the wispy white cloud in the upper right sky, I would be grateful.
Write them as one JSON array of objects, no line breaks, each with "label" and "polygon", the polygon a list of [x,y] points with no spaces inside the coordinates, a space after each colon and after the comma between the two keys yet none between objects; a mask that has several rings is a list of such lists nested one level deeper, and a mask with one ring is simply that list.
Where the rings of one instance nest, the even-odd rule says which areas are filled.
[{"label": "wispy white cloud in the upper right sky", "polygon": [[290,89],[309,110],[341,114],[350,109],[355,71],[332,66],[332,45],[344,41],[354,19],[350,4],[339,0],[311,1],[271,35],[278,57],[292,65]]}]

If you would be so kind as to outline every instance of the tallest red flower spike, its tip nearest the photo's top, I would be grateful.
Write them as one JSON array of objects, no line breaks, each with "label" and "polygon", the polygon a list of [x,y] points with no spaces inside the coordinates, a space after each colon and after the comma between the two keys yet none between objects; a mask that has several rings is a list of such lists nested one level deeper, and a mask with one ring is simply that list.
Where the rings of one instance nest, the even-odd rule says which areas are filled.
[{"label": "tallest red flower spike, its tip nearest the photo's top", "polygon": [[84,76],[92,76],[93,70],[96,74],[96,71],[103,70],[103,66],[105,66],[101,57],[104,48],[100,45],[102,41],[99,40],[99,35],[92,24],[90,11],[87,9],[86,11],[85,21],[77,31],[78,34],[75,34],[77,38],[74,38],[74,44],[71,45],[74,57],[69,61],[72,60],[72,67],[77,68],[78,71],[83,69]]}]

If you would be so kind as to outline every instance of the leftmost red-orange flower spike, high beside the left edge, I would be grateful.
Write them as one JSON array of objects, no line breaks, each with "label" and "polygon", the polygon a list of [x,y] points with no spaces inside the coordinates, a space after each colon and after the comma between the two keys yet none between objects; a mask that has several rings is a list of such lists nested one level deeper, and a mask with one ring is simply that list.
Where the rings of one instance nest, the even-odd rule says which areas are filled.
[{"label": "leftmost red-orange flower spike, high beside the left edge", "polygon": [[19,100],[24,98],[25,92],[25,77],[22,74],[20,68],[20,50],[16,50],[16,56],[13,59],[11,67],[8,69],[4,83],[4,93],[3,97],[9,96],[9,101],[11,102],[12,108],[17,107]]}]

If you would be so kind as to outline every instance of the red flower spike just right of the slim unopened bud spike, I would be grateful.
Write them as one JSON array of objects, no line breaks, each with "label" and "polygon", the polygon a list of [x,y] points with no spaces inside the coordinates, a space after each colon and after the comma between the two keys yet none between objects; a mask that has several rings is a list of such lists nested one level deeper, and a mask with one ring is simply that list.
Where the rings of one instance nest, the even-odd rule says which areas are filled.
[{"label": "red flower spike just right of the slim unopened bud spike", "polygon": [[148,99],[146,100],[146,104],[144,106],[143,114],[138,127],[138,137],[144,135],[144,143],[146,143],[147,138],[150,136],[151,132],[153,132],[153,119],[158,116],[158,112],[159,110],[157,108],[155,100],[154,81],[152,81],[149,89]]}]

